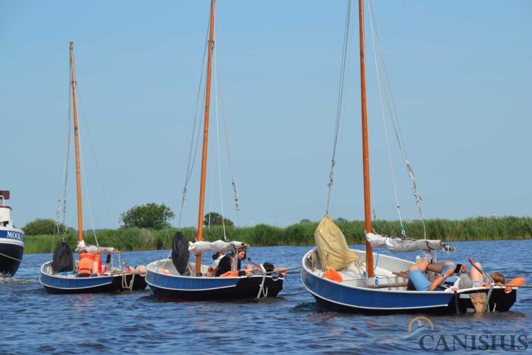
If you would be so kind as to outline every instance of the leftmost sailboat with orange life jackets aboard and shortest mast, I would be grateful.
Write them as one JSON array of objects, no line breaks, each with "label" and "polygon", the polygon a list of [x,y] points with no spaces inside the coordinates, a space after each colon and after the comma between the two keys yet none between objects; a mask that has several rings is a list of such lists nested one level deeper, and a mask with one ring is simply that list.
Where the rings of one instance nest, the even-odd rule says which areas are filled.
[{"label": "leftmost sailboat with orange life jackets aboard and shortest mast", "polygon": [[[74,261],[72,249],[63,240],[55,249],[53,258],[40,267],[40,283],[48,293],[109,293],[122,290],[144,290],[147,286],[145,273],[124,268],[121,252],[113,247],[85,244],[82,218],[82,185],[79,169],[79,129],[77,124],[76,88],[74,71],[74,43],[70,42],[70,85],[74,118],[74,144],[76,157],[78,244]],[[69,118],[70,119],[70,118]],[[70,131],[70,130],[69,130]],[[70,139],[70,138],[69,138]],[[66,157],[67,159],[67,157]],[[66,178],[66,169],[65,169]],[[58,203],[59,206],[59,203]],[[57,214],[59,214],[59,207]],[[105,256],[105,260],[103,261]],[[113,256],[118,257],[120,268],[113,267]]]}]

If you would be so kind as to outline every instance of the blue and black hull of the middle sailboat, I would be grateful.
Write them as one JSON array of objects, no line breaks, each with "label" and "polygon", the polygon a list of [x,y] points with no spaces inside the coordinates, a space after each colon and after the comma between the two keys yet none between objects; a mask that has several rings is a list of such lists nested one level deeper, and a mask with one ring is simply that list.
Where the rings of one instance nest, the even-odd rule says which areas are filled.
[{"label": "blue and black hull of the middle sailboat", "polygon": [[[146,281],[157,300],[192,302],[210,300],[240,300],[247,298],[277,297],[284,278],[272,275],[242,276],[237,278],[191,277],[179,275],[170,266],[172,261],[155,261],[148,265]],[[158,272],[162,264],[170,274]]]}]

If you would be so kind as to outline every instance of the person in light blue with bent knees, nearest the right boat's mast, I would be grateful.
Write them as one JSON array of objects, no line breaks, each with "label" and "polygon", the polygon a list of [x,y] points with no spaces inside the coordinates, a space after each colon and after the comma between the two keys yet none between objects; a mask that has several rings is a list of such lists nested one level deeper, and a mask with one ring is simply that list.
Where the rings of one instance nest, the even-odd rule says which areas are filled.
[{"label": "person in light blue with bent knees, nearest the right boat's mast", "polygon": [[[423,251],[424,258],[419,263],[415,263],[409,269],[409,285],[406,290],[433,291],[438,288],[445,280],[455,282],[455,263],[453,261],[444,261],[442,263],[433,263],[433,256],[430,251]],[[436,280],[427,280],[423,275],[425,271],[439,273]]]}]

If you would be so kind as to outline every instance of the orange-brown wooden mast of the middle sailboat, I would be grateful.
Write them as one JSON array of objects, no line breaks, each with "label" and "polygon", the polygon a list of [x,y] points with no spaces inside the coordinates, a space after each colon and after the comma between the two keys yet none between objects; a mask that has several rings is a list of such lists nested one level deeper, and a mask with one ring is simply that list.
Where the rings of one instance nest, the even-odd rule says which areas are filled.
[{"label": "orange-brown wooden mast of the middle sailboat", "polygon": [[[214,49],[214,1],[211,0],[211,26],[209,29],[209,58],[207,60],[207,82],[205,88],[205,119],[203,129],[203,153],[201,155],[201,184],[199,187],[198,236],[203,240],[203,214],[205,205],[205,176],[207,169],[207,143],[209,141],[209,106],[211,102],[212,51]],[[196,253],[196,273],[201,271],[201,253]]]}]

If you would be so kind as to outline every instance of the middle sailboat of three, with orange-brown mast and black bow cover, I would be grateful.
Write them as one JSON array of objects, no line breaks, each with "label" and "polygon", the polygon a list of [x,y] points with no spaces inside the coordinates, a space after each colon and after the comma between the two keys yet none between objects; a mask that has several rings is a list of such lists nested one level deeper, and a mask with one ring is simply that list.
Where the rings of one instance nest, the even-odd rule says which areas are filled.
[{"label": "middle sailboat of three, with orange-brown mast and black bow cover", "polygon": [[[284,280],[284,273],[277,273],[274,268],[267,268],[267,263],[255,264],[257,271],[261,271],[260,273],[246,273],[245,271],[238,273],[237,265],[240,264],[240,261],[237,260],[236,256],[241,251],[249,249],[247,244],[239,241],[218,240],[211,242],[203,240],[211,71],[214,52],[214,9],[215,0],[211,0],[198,234],[196,241],[187,245],[183,234],[178,231],[172,241],[172,257],[148,264],[146,281],[157,300],[179,302],[276,297],[282,290]],[[230,252],[224,258],[231,261],[231,271],[218,276],[209,275],[209,266],[201,265],[201,253],[213,252],[216,255],[226,251]],[[189,261],[189,253],[195,255],[195,262]]]}]

